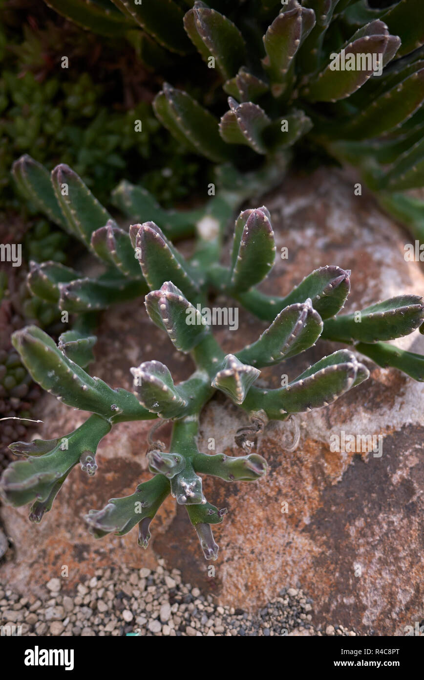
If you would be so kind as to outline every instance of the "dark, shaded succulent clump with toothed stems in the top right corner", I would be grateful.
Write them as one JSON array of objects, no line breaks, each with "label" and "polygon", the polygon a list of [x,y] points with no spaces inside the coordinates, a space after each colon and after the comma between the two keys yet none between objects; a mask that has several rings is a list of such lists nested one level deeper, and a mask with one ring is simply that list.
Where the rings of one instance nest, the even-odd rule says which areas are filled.
[{"label": "dark, shaded succulent clump with toothed stems in the top right corner", "polygon": [[424,184],[421,0],[383,8],[367,0],[48,5],[109,36],[137,29],[150,65],[156,49],[159,72],[164,54],[183,60],[197,50],[204,102],[188,93],[186,61],[178,80],[188,92],[165,83],[154,102],[164,126],[192,152],[242,166],[255,155],[289,155],[295,144],[313,154],[321,148],[357,165],[381,203],[424,241],[423,202],[404,193]]}]

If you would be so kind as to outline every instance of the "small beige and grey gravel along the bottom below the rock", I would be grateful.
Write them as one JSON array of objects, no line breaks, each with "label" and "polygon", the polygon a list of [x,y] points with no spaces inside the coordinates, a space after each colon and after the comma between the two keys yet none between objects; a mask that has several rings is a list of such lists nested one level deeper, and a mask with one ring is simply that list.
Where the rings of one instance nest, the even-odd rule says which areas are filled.
[{"label": "small beige and grey gravel along the bottom below the rock", "polygon": [[164,560],[154,571],[99,569],[74,594],[57,578],[41,599],[0,586],[0,625],[22,626],[25,636],[355,636],[335,624],[315,628],[312,613],[313,600],[300,588],[283,588],[255,613],[224,607],[183,583],[177,569],[166,571]]}]

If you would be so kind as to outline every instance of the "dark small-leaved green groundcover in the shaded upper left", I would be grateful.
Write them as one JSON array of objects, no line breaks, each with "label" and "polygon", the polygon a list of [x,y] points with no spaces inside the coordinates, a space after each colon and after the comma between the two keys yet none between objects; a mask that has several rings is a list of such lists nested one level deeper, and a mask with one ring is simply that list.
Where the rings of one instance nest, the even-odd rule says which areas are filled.
[{"label": "dark small-leaved green groundcover in the shaded upper left", "polygon": [[[18,12],[7,5],[0,7],[0,211],[22,210],[10,166],[23,153],[41,163],[69,163],[102,200],[124,168],[169,205],[196,190],[208,163],[164,135],[151,103],[157,86],[145,69],[137,69],[139,82],[128,84],[135,59],[129,45],[117,58],[97,36],[88,41],[86,31],[69,24],[67,31],[52,22],[30,27],[33,7]],[[5,20],[12,11],[19,28]],[[96,53],[101,67],[92,63]],[[62,55],[69,69],[61,68]],[[141,162],[147,158],[148,165]]]}]

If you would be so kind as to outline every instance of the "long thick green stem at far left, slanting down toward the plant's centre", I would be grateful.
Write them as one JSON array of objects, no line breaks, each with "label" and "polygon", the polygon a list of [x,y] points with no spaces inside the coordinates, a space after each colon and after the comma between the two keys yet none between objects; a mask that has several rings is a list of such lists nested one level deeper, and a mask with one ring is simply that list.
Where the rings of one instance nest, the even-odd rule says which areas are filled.
[{"label": "long thick green stem at far left, slanting down toward the plant's centre", "polygon": [[33,380],[64,404],[97,413],[108,422],[151,417],[130,392],[112,390],[103,380],[90,377],[37,326],[16,330],[12,344]]}]

